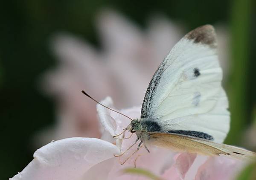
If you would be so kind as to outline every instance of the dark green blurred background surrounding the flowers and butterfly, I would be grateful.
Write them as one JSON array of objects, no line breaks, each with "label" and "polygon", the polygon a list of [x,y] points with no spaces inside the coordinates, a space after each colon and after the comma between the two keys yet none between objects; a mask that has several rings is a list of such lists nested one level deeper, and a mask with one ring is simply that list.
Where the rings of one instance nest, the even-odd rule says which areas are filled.
[{"label": "dark green blurred background surrounding the flowers and butterfly", "polygon": [[145,27],[152,13],[182,21],[189,31],[204,24],[230,28],[230,75],[225,85],[232,113],[228,144],[239,145],[253,122],[256,108],[256,2],[254,0],[25,0],[0,5],[0,179],[21,171],[36,149],[36,131],[55,122],[53,100],[38,90],[38,79],[56,64],[49,48],[55,32],[70,32],[99,46],[95,15],[102,8],[117,10]]}]

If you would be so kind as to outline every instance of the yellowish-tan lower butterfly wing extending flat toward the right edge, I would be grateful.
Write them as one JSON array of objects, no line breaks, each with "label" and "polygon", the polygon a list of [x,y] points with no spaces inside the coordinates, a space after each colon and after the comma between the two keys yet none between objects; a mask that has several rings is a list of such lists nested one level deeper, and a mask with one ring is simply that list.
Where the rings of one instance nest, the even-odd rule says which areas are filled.
[{"label": "yellowish-tan lower butterfly wing extending flat toward the right edge", "polygon": [[256,160],[256,153],[232,145],[173,133],[148,132],[153,145],[175,151],[188,151],[208,156],[227,155],[240,160]]}]

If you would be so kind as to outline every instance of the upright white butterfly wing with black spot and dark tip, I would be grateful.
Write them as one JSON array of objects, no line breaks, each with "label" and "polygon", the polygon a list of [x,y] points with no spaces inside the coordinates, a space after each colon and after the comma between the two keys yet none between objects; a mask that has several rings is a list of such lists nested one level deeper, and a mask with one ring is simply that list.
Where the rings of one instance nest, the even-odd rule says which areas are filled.
[{"label": "upright white butterfly wing with black spot and dark tip", "polygon": [[214,28],[201,26],[185,35],[151,79],[141,110],[162,132],[198,131],[223,142],[229,131],[227,96],[221,87]]}]

